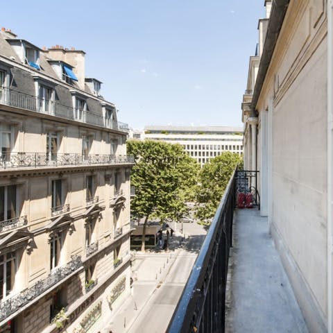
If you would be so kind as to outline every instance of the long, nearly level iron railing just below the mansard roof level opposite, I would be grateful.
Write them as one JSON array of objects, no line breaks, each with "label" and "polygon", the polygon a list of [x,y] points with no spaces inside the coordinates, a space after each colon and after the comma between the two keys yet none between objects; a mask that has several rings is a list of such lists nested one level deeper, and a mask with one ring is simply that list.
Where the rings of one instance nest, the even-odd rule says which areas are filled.
[{"label": "long, nearly level iron railing just below the mansard roof level opposite", "polygon": [[0,155],[0,169],[64,167],[90,164],[121,164],[133,163],[134,157],[127,155],[106,154],[48,154],[48,153],[15,153]]}]

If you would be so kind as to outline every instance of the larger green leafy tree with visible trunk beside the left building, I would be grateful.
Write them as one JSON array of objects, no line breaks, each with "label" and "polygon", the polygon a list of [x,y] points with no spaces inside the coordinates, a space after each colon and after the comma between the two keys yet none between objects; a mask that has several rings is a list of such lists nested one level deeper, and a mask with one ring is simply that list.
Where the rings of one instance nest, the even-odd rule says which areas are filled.
[{"label": "larger green leafy tree with visible trunk beside the left building", "polygon": [[194,198],[199,166],[182,146],[153,140],[128,140],[129,155],[134,155],[131,185],[135,197],[131,212],[144,217],[142,251],[145,250],[146,223],[157,219],[179,219],[187,212],[186,201]]}]

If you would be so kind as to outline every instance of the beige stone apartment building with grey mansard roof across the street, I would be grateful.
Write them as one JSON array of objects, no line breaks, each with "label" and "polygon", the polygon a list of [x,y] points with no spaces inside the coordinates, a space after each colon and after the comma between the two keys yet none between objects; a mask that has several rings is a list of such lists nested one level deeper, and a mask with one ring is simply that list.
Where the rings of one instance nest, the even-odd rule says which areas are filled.
[{"label": "beige stone apartment building with grey mansard roof across the street", "polygon": [[104,332],[129,294],[132,161],[100,89],[85,52],[1,29],[1,333]]}]

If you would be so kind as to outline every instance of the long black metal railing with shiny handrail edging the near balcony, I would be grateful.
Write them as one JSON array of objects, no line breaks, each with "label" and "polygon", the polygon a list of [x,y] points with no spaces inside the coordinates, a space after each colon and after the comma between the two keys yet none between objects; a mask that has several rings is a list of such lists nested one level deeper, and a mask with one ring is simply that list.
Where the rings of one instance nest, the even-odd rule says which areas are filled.
[{"label": "long black metal railing with shiny handrail edging the near balcony", "polygon": [[224,332],[236,176],[225,189],[167,332]]}]

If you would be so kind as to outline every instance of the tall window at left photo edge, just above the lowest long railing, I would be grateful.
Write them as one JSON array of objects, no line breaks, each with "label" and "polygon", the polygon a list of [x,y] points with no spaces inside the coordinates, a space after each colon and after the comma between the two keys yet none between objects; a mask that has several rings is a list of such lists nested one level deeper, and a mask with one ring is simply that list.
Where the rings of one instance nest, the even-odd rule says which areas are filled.
[{"label": "tall window at left photo edge, just above the lowest long railing", "polygon": [[5,298],[14,287],[15,271],[15,253],[0,255],[0,300]]}]

